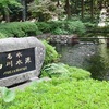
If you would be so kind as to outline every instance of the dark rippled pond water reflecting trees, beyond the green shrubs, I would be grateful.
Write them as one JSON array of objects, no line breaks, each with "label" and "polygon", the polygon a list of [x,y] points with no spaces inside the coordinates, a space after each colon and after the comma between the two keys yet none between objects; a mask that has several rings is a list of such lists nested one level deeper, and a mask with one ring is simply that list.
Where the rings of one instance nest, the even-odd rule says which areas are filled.
[{"label": "dark rippled pond water reflecting trees, beyond the green shrubs", "polygon": [[61,62],[82,68],[92,73],[93,78],[109,80],[109,47],[107,44],[53,44],[62,56]]}]

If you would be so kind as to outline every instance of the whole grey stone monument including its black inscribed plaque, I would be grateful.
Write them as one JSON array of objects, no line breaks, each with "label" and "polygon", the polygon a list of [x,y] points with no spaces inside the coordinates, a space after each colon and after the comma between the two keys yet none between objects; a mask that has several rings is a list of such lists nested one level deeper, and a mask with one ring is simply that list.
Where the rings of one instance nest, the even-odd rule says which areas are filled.
[{"label": "whole grey stone monument including its black inscribed plaque", "polygon": [[44,59],[45,46],[36,37],[0,39],[0,86],[37,78]]}]

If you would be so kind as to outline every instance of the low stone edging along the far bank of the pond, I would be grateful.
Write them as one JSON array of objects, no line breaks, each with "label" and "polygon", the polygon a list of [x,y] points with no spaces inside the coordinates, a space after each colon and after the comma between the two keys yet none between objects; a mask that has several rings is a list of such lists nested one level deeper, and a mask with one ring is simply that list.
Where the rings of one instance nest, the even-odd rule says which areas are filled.
[{"label": "low stone edging along the far bank of the pond", "polygon": [[109,44],[108,37],[77,37],[76,34],[74,35],[51,35],[51,34],[43,34],[36,36],[39,39],[46,39],[50,43],[59,43],[59,44],[77,44],[80,40],[93,41],[93,43],[107,43]]}]

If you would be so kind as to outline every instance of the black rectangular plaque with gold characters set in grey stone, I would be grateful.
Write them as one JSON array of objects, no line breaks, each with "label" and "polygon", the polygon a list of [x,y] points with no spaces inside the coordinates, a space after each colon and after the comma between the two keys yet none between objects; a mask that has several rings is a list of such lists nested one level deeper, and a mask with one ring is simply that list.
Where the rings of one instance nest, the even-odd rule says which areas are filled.
[{"label": "black rectangular plaque with gold characters set in grey stone", "polygon": [[0,53],[0,78],[35,70],[34,48]]}]

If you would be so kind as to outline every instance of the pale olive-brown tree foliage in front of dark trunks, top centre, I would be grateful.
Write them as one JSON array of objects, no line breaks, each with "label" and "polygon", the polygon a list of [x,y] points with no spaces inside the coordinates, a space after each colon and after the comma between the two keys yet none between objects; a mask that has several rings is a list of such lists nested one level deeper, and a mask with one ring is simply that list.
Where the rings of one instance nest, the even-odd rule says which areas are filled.
[{"label": "pale olive-brown tree foliage in front of dark trunks, top centre", "polygon": [[28,7],[28,11],[32,13],[32,17],[36,17],[38,21],[49,21],[52,16],[61,15],[64,9],[57,8],[52,0],[34,0]]}]

